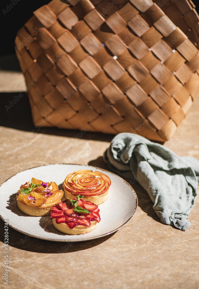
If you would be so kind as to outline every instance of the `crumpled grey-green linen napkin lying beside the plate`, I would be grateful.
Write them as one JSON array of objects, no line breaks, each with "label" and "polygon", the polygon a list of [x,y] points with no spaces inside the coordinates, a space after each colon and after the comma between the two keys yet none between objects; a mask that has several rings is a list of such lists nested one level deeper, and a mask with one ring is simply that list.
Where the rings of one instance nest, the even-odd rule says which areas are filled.
[{"label": "crumpled grey-green linen napkin lying beside the plate", "polygon": [[199,185],[199,160],[131,133],[116,135],[104,153],[112,170],[132,177],[148,192],[162,223],[185,231]]}]

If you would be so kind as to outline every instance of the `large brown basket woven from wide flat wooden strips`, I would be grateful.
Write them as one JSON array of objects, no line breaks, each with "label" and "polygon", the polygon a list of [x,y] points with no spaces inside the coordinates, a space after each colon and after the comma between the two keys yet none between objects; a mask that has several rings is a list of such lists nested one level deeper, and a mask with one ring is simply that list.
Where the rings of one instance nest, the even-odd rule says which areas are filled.
[{"label": "large brown basket woven from wide flat wooden strips", "polygon": [[198,20],[190,0],[42,6],[15,39],[34,124],[169,140],[199,92]]}]

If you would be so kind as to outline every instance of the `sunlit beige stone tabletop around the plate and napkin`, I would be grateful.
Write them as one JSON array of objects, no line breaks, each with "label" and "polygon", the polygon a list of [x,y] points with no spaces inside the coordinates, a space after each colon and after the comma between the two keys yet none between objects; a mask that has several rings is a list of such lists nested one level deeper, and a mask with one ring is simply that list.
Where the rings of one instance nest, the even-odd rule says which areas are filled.
[{"label": "sunlit beige stone tabletop around the plate and napkin", "polygon": [[[179,156],[199,159],[198,124],[199,98],[165,145]],[[0,184],[22,170],[43,164],[91,164],[108,169],[102,155],[110,143],[100,141],[100,137],[88,140],[82,136],[74,141],[67,131],[66,136],[55,136],[8,127],[1,127],[0,135]],[[70,142],[72,146],[64,153]],[[138,196],[136,214],[124,227],[104,238],[49,242],[9,228],[9,287],[3,284],[0,220],[1,288],[198,289],[199,198],[189,215],[191,226],[183,232],[163,225],[145,190],[137,183],[133,187]]]}]

